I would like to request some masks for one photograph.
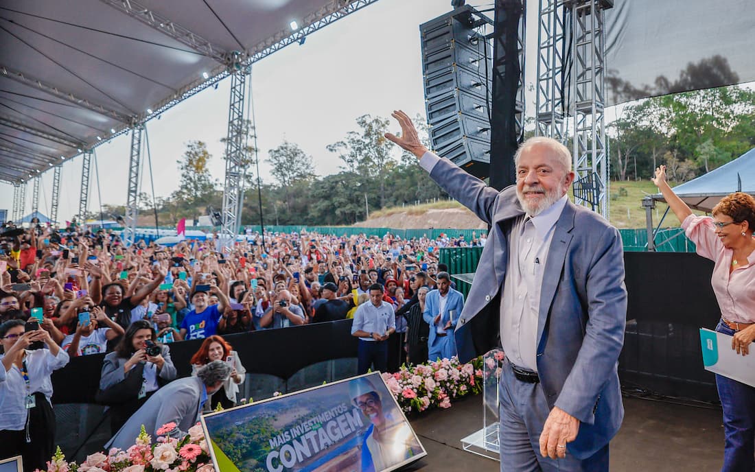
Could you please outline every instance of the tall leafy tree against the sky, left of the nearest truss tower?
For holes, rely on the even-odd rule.
[[[212,159],[207,145],[202,141],[186,143],[186,152],[176,162],[180,171],[180,186],[173,193],[173,199],[183,202],[183,209],[196,218],[199,208],[211,204],[216,182],[212,179],[208,163]]]

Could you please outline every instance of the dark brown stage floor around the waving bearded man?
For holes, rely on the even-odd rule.
[[[611,442],[612,472],[720,470],[720,409],[624,398],[624,424]],[[461,438],[482,427],[482,398],[458,400],[411,419],[427,457],[406,470],[495,472],[498,461],[464,451]]]

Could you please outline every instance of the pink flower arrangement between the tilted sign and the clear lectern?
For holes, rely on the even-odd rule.
[[[450,408],[451,400],[482,391],[482,357],[461,364],[454,356],[420,366],[402,366],[399,372],[384,373],[390,393],[404,412],[424,412],[434,406]]]

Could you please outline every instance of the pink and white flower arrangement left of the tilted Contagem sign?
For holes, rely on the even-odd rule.
[[[125,451],[112,448],[107,453],[95,452],[81,464],[66,462],[58,447],[46,472],[214,472],[202,425],[190,427],[182,439],[171,437],[175,432],[175,423],[163,424],[156,431],[156,443],[152,443],[142,426],[134,446]]]

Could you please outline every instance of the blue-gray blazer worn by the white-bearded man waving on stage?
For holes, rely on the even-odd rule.
[[[524,211],[515,187],[498,192],[448,159],[430,177],[491,227],[455,330],[459,358],[467,362],[500,344],[508,238]],[[606,446],[624,418],[617,372],[627,316],[623,256],[615,227],[587,208],[566,204],[544,269],[537,362],[549,408],[558,406],[581,422],[569,443],[577,458]]]

